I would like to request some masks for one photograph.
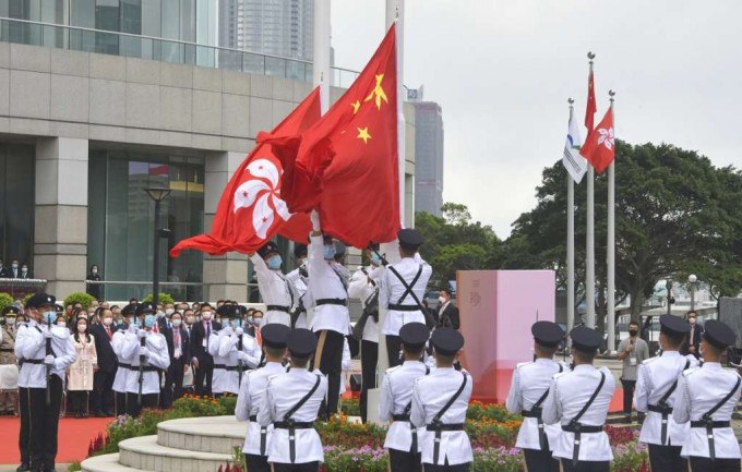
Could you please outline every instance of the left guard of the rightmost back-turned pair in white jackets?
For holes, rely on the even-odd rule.
[[[649,462],[656,472],[687,471],[687,461],[680,450],[689,434],[690,424],[678,424],[672,419],[674,392],[679,377],[697,362],[680,355],[691,325],[673,315],[659,317],[659,346],[662,355],[639,364],[634,404],[636,411],[647,413],[642,424],[639,441],[649,446]]]

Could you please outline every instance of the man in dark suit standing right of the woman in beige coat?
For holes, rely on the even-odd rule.
[[[117,326],[113,324],[113,314],[108,308],[100,310],[100,319],[101,324],[91,325],[89,328],[98,355],[98,371],[93,375],[91,410],[94,416],[113,416],[113,378],[118,361],[111,339]]]

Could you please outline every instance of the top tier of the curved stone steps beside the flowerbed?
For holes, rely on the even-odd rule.
[[[242,447],[248,423],[235,416],[185,417],[164,421],[157,425],[160,446],[201,452],[232,455]]]

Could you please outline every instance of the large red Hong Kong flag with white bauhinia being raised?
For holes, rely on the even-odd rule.
[[[320,119],[320,88],[315,88],[274,130],[277,136],[292,136]],[[276,233],[307,242],[312,223],[307,214],[291,215],[282,194],[283,166],[271,144],[258,146],[242,161],[222,194],[212,232],[180,241],[170,250],[178,257],[182,250],[210,254],[237,251],[251,254]]]

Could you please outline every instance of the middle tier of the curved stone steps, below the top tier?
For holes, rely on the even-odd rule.
[[[157,444],[157,436],[142,436],[119,443],[119,463],[154,472],[217,472],[232,461],[231,453],[175,449]]]

